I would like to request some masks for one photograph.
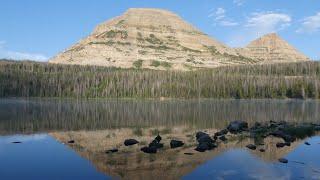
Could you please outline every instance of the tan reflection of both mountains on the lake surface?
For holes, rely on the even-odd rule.
[[[228,133],[225,142],[217,140],[218,147],[200,153],[195,151],[197,141],[195,134],[198,129],[187,126],[114,129],[100,131],[68,131],[50,133],[62,143],[72,139],[74,144],[68,144],[82,157],[89,159],[99,171],[122,179],[178,179],[194,171],[198,166],[220,156],[232,149],[244,149],[253,156],[266,163],[277,162],[299,144],[298,140],[283,148],[277,148],[276,143],[282,142],[280,138],[267,137],[263,145],[257,145],[257,150],[249,150],[246,145],[255,143],[251,138],[243,138]],[[203,129],[213,135],[218,129]],[[143,153],[140,148],[148,145],[157,134],[162,137],[164,147],[156,154]],[[126,147],[123,142],[127,138],[139,140],[139,144]],[[181,140],[185,143],[181,148],[170,148],[170,140]],[[105,153],[109,149],[118,149],[115,153]],[[259,149],[265,149],[260,152]],[[186,153],[191,153],[186,154]]]

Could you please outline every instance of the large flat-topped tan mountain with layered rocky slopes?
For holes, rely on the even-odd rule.
[[[179,16],[160,9],[129,9],[50,63],[123,68],[192,69],[254,63],[202,33]]]

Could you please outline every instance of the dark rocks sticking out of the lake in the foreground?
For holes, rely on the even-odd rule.
[[[283,142],[276,143],[277,148],[282,148],[285,146],[290,146],[292,142],[296,141],[298,138],[302,139],[307,136],[313,135],[316,131],[320,131],[320,125],[317,124],[289,124],[287,122],[274,122],[270,121],[265,124],[255,123],[252,127],[249,128],[248,123],[244,121],[233,121],[229,125],[222,129],[214,135],[209,135],[208,133],[199,131],[196,133],[195,138],[197,141],[197,146],[194,149],[198,152],[205,152],[212,150],[218,147],[220,142],[227,142],[228,138],[226,137],[228,133],[236,135],[246,135],[254,139],[259,139],[262,142],[256,142],[254,144],[248,144],[246,147],[250,150],[257,150],[257,146],[264,145],[263,140],[268,136],[278,137],[283,140]],[[162,137],[157,135],[154,140],[152,140],[148,146],[142,147],[140,150],[144,153],[154,154],[157,151],[164,147],[164,144],[161,143]],[[139,141],[135,139],[126,139],[124,141],[125,146],[132,146],[138,144]],[[306,145],[310,143],[305,142]],[[170,148],[182,147],[184,142],[180,140],[171,140]],[[259,148],[260,152],[265,152],[265,149]],[[106,153],[118,152],[118,149],[107,150]],[[186,155],[192,155],[193,153],[185,153]],[[279,162],[287,163],[288,160],[282,158],[279,159]]]

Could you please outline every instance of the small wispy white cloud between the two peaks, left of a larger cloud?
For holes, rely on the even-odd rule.
[[[226,10],[221,7],[216,10],[211,10],[211,13],[208,15],[208,17],[214,19],[214,25],[237,26],[239,24],[233,21],[232,19],[226,17]]]

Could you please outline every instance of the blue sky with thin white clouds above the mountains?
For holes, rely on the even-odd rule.
[[[0,58],[46,61],[130,7],[173,11],[232,47],[277,32],[320,59],[319,0],[1,0]]]

